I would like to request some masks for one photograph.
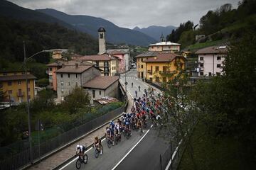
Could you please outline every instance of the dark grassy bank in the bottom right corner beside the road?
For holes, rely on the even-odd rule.
[[[250,155],[245,145],[235,140],[233,136],[215,137],[206,132],[204,125],[198,125],[191,139],[197,169],[255,169],[253,155]],[[178,167],[178,170],[183,169],[193,169],[193,162],[191,162],[187,148]]]

